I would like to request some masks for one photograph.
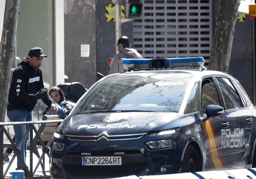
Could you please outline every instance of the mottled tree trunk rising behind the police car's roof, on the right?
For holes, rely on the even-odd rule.
[[[221,0],[212,42],[209,69],[227,73],[240,0]]]

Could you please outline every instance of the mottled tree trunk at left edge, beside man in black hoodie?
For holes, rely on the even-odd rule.
[[[0,122],[5,121],[19,4],[20,0],[6,0],[5,3],[3,32],[0,43]]]

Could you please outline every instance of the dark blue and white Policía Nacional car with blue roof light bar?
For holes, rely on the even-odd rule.
[[[55,130],[52,178],[255,167],[256,110],[235,78],[202,57],[119,63]]]

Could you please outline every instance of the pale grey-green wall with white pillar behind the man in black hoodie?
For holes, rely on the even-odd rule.
[[[0,35],[6,0],[0,0]],[[45,86],[64,83],[64,2],[63,0],[21,0],[11,73],[33,47],[41,47],[48,58],[41,66]],[[33,120],[42,120],[45,104],[37,102]],[[6,120],[8,120],[6,118]]]

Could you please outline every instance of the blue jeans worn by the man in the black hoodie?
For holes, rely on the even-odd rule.
[[[33,112],[25,112],[23,110],[12,110],[12,111],[7,111],[7,116],[11,122],[26,122],[26,121],[32,121],[33,117]],[[15,145],[18,147],[23,136],[26,133],[26,130],[28,129],[28,124],[21,124],[21,125],[14,125],[14,132],[16,136],[16,143]],[[26,155],[27,155],[27,142],[29,139],[29,133],[27,135],[26,140],[23,142],[21,145],[21,157],[23,160],[26,162]],[[23,170],[23,163],[20,160],[20,158],[17,156],[17,165],[18,165],[18,170]]]

